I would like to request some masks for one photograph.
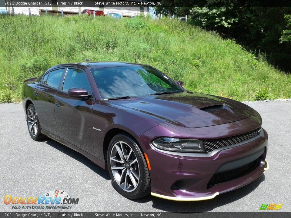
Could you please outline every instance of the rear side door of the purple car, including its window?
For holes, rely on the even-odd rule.
[[[61,84],[65,68],[50,71],[42,76],[41,81],[35,86],[34,106],[42,129],[59,136],[55,121],[55,99]]]

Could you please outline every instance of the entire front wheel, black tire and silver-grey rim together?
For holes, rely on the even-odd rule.
[[[120,152],[123,157],[119,155]],[[121,195],[138,199],[150,193],[151,182],[146,158],[133,137],[118,134],[112,138],[107,152],[107,164],[112,184]]]

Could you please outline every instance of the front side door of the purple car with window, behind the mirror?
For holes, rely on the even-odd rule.
[[[88,94],[92,89],[85,71],[68,68],[60,91],[55,95],[55,119],[59,136],[67,142],[94,155],[92,146],[92,97],[72,98],[71,88],[85,88]]]

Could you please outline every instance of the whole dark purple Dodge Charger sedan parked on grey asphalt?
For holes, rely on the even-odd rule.
[[[260,115],[182,84],[145,64],[60,64],[23,85],[28,132],[108,169],[130,199],[205,200],[256,180],[269,168]]]

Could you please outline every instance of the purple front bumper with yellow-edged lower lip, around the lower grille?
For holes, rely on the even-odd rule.
[[[153,128],[152,131],[157,130]],[[141,137],[142,142],[144,143],[146,139],[149,140],[151,138],[149,136],[149,133],[145,133]],[[262,129],[261,135],[243,144],[223,147],[209,154],[192,154],[191,157],[183,153],[180,155],[163,153],[152,145],[148,146],[150,141],[146,141],[149,144],[143,149],[145,149],[151,165],[151,194],[169,200],[197,201],[212,199],[218,194],[243,187],[269,169],[268,162],[265,160],[267,139],[268,135]],[[256,165],[252,170],[229,181],[208,185],[212,176],[222,166],[237,167],[239,162],[242,162],[241,165],[243,165],[245,164],[243,162],[248,161],[250,157],[256,158]],[[173,188],[173,184],[177,181],[186,181],[186,184]]]

